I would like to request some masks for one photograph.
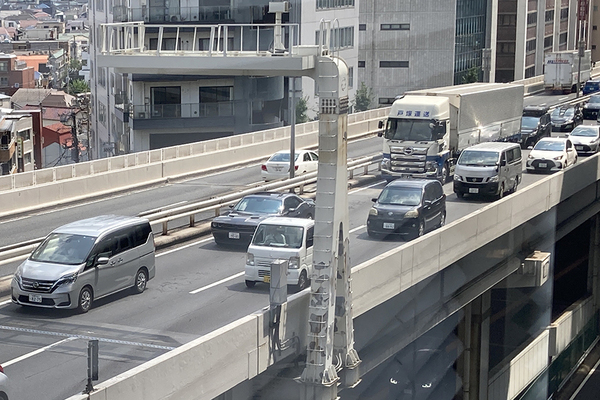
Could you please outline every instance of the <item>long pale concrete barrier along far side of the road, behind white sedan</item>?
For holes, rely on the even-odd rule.
[[[376,132],[378,122],[388,112],[389,107],[351,114],[348,118],[349,138]],[[318,122],[298,125],[297,148],[317,146],[318,127]],[[259,160],[289,148],[289,137],[290,127],[276,128],[2,176],[0,216]]]

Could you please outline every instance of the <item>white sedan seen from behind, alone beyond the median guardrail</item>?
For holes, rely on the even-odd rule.
[[[294,176],[317,170],[319,156],[316,152],[310,150],[298,150],[295,154]],[[260,169],[260,175],[265,181],[272,181],[290,176],[290,151],[278,151],[273,154]]]

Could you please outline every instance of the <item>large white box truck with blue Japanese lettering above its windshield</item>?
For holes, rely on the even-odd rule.
[[[431,178],[454,173],[460,151],[481,142],[520,139],[523,85],[470,83],[405,93],[394,101],[383,140],[381,175]],[[379,127],[383,128],[384,121]]]

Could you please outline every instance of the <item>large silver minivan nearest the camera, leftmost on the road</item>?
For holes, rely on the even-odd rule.
[[[12,301],[87,312],[92,301],[154,278],[154,236],[144,218],[104,215],[52,231],[15,272]]]

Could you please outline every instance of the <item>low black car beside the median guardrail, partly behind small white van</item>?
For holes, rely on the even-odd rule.
[[[211,231],[217,244],[247,246],[263,219],[274,216],[313,218],[315,203],[294,193],[262,192],[242,198],[231,210],[213,219]]]

